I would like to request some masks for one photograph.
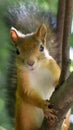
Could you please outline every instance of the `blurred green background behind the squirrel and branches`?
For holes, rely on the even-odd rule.
[[[29,3],[29,0],[23,0]],[[49,9],[55,15],[57,14],[58,0],[32,0],[38,3],[39,7],[45,8],[46,11]],[[10,124],[8,114],[5,107],[5,92],[6,92],[6,69],[9,58],[9,29],[7,28],[5,21],[3,20],[3,14],[5,13],[5,7],[8,3],[13,4],[18,2],[18,0],[0,0],[0,130],[1,127],[6,128],[6,130],[12,130],[13,127]],[[33,5],[34,6],[34,5]],[[73,25],[71,27],[71,37],[70,37],[70,57],[73,60]],[[73,61],[71,62],[70,71],[73,71]],[[71,125],[72,127],[72,125]],[[70,128],[72,130],[73,128]]]

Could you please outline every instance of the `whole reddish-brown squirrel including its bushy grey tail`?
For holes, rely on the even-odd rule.
[[[12,88],[8,85],[9,96],[14,92],[16,97],[16,102],[12,101],[16,104],[15,130],[38,130],[44,116],[54,118],[48,106],[61,71],[54,53],[50,51],[51,44],[54,45],[51,18],[37,8],[34,10],[32,6],[27,6],[20,4],[19,8],[10,8],[6,18],[6,23],[12,26],[10,36],[16,51],[11,55],[13,75],[9,72]],[[12,92],[9,92],[10,89]],[[13,116],[12,106],[11,109]]]

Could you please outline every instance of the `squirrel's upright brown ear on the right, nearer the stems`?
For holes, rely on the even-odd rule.
[[[39,37],[42,41],[44,41],[46,39],[46,34],[47,34],[47,28],[46,28],[46,25],[45,24],[42,24],[37,32],[36,32],[36,35],[37,37]]]

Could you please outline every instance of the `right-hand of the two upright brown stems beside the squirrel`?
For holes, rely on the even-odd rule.
[[[64,30],[63,30],[63,41],[62,41],[62,71],[60,77],[60,84],[64,82],[67,77],[69,70],[70,60],[69,60],[69,38],[71,29],[71,19],[72,19],[72,7],[73,0],[66,0],[65,5],[65,20],[64,20]]]

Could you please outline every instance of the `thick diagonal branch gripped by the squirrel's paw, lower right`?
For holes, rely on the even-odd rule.
[[[64,116],[73,104],[73,72],[69,78],[63,83],[57,91],[54,92],[50,99],[50,103],[53,104],[53,108],[57,114],[57,120],[50,126],[50,120],[48,129],[59,130],[61,129]]]

